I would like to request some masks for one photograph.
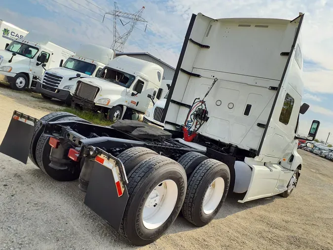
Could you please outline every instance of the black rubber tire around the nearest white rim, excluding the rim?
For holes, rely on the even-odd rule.
[[[158,183],[171,179],[178,186],[175,208],[168,219],[156,229],[147,229],[142,222],[143,208],[150,192]],[[136,246],[145,246],[160,238],[177,218],[185,198],[186,173],[182,166],[170,158],[155,156],[133,169],[128,177],[129,199],[120,231]]]

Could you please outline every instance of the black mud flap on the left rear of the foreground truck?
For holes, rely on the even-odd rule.
[[[36,118],[14,111],[1,142],[0,152],[27,164],[36,122]]]

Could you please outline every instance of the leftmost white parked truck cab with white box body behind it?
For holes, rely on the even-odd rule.
[[[44,70],[58,67],[72,55],[74,52],[50,42],[44,34],[29,32],[0,50],[0,75],[12,89],[34,88]]]

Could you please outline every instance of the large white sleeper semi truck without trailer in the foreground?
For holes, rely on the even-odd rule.
[[[23,163],[29,155],[55,180],[78,178],[84,204],[135,245],[161,237],[179,212],[207,225],[228,193],[242,194],[240,203],[288,197],[303,166],[297,140],[314,140],[320,125],[313,121],[307,138],[297,137],[309,107],[301,104],[303,17],[193,14],[164,130],[128,120],[93,125],[64,112],[37,120],[15,111],[0,152]]]

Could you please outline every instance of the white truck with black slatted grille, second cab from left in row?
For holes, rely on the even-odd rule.
[[[36,91],[45,99],[56,98],[71,105],[70,89],[75,87],[77,79],[98,76],[114,56],[115,52],[110,48],[82,44],[60,67],[45,71]]]

